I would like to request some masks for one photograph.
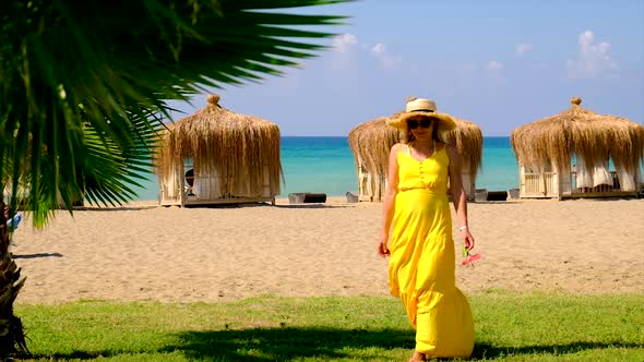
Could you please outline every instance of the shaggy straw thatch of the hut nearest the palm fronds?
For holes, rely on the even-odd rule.
[[[204,108],[168,125],[155,162],[159,181],[182,177],[184,160],[192,159],[195,180],[215,178],[219,197],[260,197],[266,184],[271,196],[278,195],[279,128],[218,101],[208,95]]]

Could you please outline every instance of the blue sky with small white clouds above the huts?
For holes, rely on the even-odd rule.
[[[213,89],[224,107],[286,136],[346,136],[408,96],[434,99],[487,136],[563,111],[573,96],[644,122],[642,0],[362,0],[298,12],[350,19],[331,28],[329,49],[284,76]],[[170,104],[184,112],[172,117],[205,102]]]

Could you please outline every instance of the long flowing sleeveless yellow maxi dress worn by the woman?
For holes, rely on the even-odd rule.
[[[443,148],[422,161],[408,146],[398,152],[389,279],[416,328],[416,350],[428,357],[468,358],[474,321],[456,288],[452,216],[448,201],[450,157]]]

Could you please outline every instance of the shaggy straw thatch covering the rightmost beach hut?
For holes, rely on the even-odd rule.
[[[552,167],[565,172],[573,155],[577,167],[587,170],[604,168],[611,158],[619,173],[637,177],[644,158],[644,126],[595,113],[581,102],[574,97],[561,113],[514,129],[511,143],[518,162],[539,171]],[[632,183],[622,181],[622,185]]]

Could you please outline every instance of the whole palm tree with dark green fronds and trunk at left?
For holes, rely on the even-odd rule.
[[[0,2],[0,186],[36,227],[80,197],[135,196],[169,99],[281,74],[344,17],[277,9],[350,0]],[[143,176],[142,176],[143,174]],[[0,202],[3,205],[3,202]],[[1,206],[1,205],[0,205]],[[24,278],[0,213],[0,357],[28,352],[13,301]]]

